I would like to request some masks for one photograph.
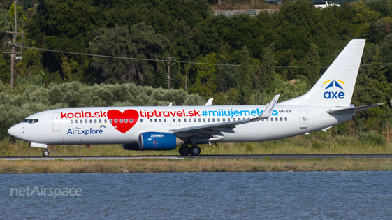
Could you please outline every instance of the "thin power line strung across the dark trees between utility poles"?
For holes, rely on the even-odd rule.
[[[82,55],[88,57],[104,57],[104,58],[116,58],[116,59],[133,59],[133,60],[145,60],[145,61],[167,61],[166,59],[144,59],[144,58],[132,58],[132,57],[115,57],[115,56],[107,56],[107,55],[99,55],[99,54],[84,54],[80,52],[68,52],[62,50],[50,50],[50,49],[43,49],[38,47],[27,47],[22,45],[17,45],[17,47],[27,48],[27,49],[34,49],[34,50],[43,50],[48,52],[61,52],[64,54],[75,54],[75,55]],[[199,62],[190,62],[190,61],[177,61],[182,64],[202,64],[202,65],[213,65],[213,66],[241,66],[240,64],[211,64],[211,63],[199,63]],[[380,64],[382,66],[391,66],[392,63],[385,63]],[[253,67],[261,67],[261,65],[250,65]],[[373,64],[361,64],[361,67],[368,67],[374,66]],[[275,68],[307,68],[307,66],[274,66]],[[320,66],[321,68],[328,68],[329,66]]]

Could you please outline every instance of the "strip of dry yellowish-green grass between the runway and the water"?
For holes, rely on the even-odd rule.
[[[391,171],[389,159],[127,159],[5,161],[0,173],[147,173],[260,171]]]

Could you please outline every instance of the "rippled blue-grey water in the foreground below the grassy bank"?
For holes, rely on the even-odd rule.
[[[81,196],[10,196],[34,186]],[[0,174],[0,219],[391,219],[391,191],[392,172]]]

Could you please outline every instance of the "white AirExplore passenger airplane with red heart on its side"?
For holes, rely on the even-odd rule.
[[[126,150],[174,150],[199,155],[197,144],[261,142],[326,130],[381,104],[350,105],[365,40],[352,40],[303,96],[269,105],[63,108],[30,115],[8,130],[48,145],[122,144]],[[191,145],[188,147],[187,145]]]

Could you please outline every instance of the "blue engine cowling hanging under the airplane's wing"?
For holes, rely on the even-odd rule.
[[[183,144],[173,133],[145,132],[139,135],[141,150],[172,150]]]

